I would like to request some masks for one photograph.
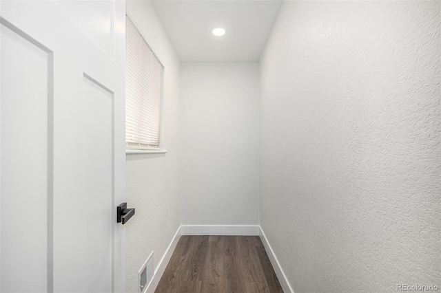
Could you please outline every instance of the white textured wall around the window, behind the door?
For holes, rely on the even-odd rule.
[[[179,60],[150,1],[127,1],[127,10],[165,66],[165,148],[158,155],[126,155],[127,206],[136,215],[127,226],[127,292],[137,292],[138,271],[154,251],[163,257],[181,224],[179,167]]]

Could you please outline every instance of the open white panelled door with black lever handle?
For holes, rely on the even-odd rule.
[[[0,291],[123,292],[125,3],[0,16]]]

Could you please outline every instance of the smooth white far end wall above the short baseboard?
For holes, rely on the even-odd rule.
[[[258,63],[181,64],[181,222],[258,224]]]

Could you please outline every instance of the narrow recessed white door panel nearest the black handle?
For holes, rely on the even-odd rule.
[[[85,231],[84,274],[88,279],[83,292],[112,291],[112,100],[113,93],[88,77],[83,78],[83,149],[85,178],[85,215],[81,219]],[[97,180],[99,178],[99,180]],[[96,273],[98,272],[98,274]]]

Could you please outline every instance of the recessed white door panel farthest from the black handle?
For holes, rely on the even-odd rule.
[[[19,30],[0,26],[1,195],[8,195],[1,197],[1,291],[44,292],[48,281],[48,84],[52,83],[48,67],[52,64],[48,52]]]

